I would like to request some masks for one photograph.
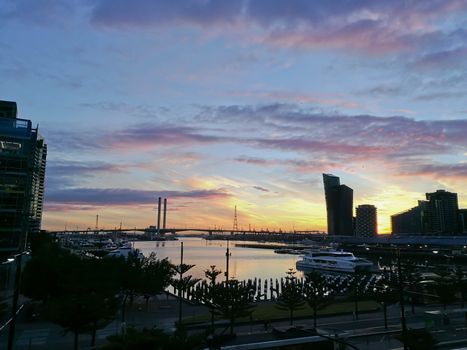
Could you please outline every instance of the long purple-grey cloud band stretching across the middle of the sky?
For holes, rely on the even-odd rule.
[[[417,120],[403,116],[344,115],[297,104],[201,106],[195,118],[179,123],[173,121],[165,126],[136,124],[99,134],[76,132],[74,137],[62,135],[54,142],[62,149],[61,142],[69,147],[81,143],[99,152],[110,153],[134,153],[142,149],[155,149],[160,153],[162,147],[209,148],[229,144],[233,146],[233,152],[237,147],[242,152],[244,147],[252,150],[248,156],[234,153],[232,159],[238,162],[285,166],[296,172],[343,169],[354,162],[360,165],[369,161],[399,164],[414,157],[429,160],[439,155],[455,155],[467,148],[467,119]],[[78,150],[79,147],[84,146],[78,146]],[[257,157],[257,151],[267,150],[284,154],[273,159]],[[187,153],[186,150],[180,152]],[[196,162],[204,159],[196,158]],[[78,168],[62,164],[54,171],[89,173],[93,166],[96,172],[112,170],[107,164],[80,165]],[[113,170],[123,171],[124,167],[120,165]]]

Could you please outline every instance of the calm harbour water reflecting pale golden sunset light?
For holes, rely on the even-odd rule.
[[[183,262],[196,265],[190,270],[190,274],[197,278],[204,278],[204,271],[211,265],[225,272],[226,241],[207,241],[198,237],[181,237],[178,241],[165,242],[135,242],[134,247],[148,256],[155,252],[157,257],[169,258],[173,264],[180,264],[180,242],[183,242]],[[276,254],[273,249],[240,248],[235,243],[258,243],[250,241],[235,242],[229,244],[230,263],[229,276],[238,280],[284,277],[288,269],[295,270],[295,263],[300,256],[290,254]],[[297,277],[302,277],[298,271]]]

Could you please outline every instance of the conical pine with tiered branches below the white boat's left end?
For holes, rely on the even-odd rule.
[[[291,325],[293,325],[294,312],[303,309],[305,305],[303,286],[298,282],[295,273],[293,269],[286,272],[285,283],[276,301],[277,308],[289,311]]]

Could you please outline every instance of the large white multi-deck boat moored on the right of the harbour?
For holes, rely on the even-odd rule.
[[[324,270],[330,272],[370,272],[373,263],[357,258],[353,253],[337,250],[309,251],[302,260],[297,261],[298,270]]]

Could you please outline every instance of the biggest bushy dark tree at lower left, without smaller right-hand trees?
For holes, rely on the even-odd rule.
[[[43,243],[25,266],[21,290],[42,301],[46,319],[74,333],[76,348],[80,333],[91,332],[94,343],[96,330],[114,318],[120,271],[119,259],[83,258]]]

